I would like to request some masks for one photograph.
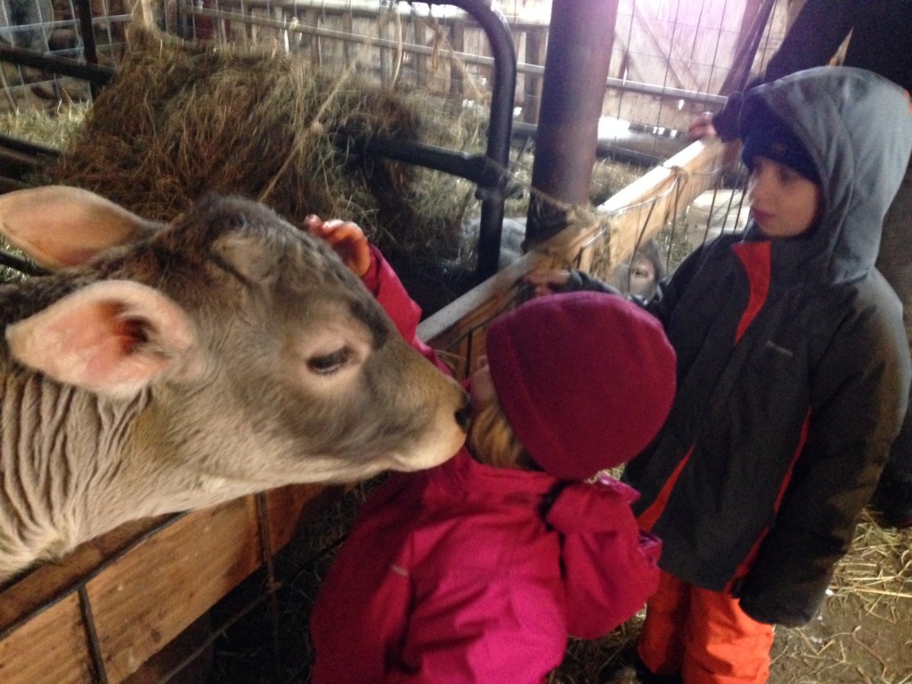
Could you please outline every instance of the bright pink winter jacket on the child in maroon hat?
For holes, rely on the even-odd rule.
[[[366,285],[394,320],[417,311],[376,256]],[[397,325],[414,340],[417,322]],[[559,482],[464,449],[430,471],[394,473],[316,599],[311,681],[544,681],[568,635],[601,637],[655,590],[659,544],[640,532],[636,498],[612,478]]]

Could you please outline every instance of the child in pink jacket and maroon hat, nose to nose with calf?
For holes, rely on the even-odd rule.
[[[418,309],[353,223],[309,223],[414,337]],[[489,327],[466,446],[394,473],[364,504],[316,599],[313,684],[535,684],[568,636],[601,637],[658,582],[637,492],[600,471],[658,432],[675,356],[620,297],[535,299]],[[432,354],[431,354],[431,357]]]

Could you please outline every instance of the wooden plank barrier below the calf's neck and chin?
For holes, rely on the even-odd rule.
[[[124,681],[264,563],[337,490],[295,485],[124,525],[0,595],[0,681]]]

